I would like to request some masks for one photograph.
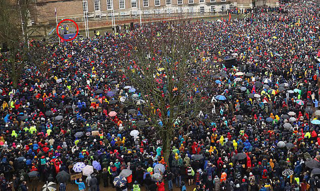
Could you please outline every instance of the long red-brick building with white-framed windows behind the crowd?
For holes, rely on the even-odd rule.
[[[142,22],[161,19],[193,18],[225,15],[232,7],[240,9],[258,5],[277,6],[278,0],[37,0],[37,8],[43,15],[37,22],[47,23],[48,33],[56,23],[64,18],[75,20],[84,29],[84,12],[90,29],[112,26],[112,13],[115,24],[139,22],[139,8]]]

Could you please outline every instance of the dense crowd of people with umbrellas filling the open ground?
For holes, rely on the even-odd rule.
[[[79,191],[320,190],[320,4],[245,13],[184,24],[201,42],[194,76],[203,86],[194,94],[211,109],[179,119],[168,162],[149,116],[128,104],[144,95],[123,73],[131,37],[150,24],[46,45],[48,74],[30,64],[16,89],[2,70],[1,191],[38,180],[65,191],[81,172],[72,180]],[[228,57],[238,67],[225,67]]]

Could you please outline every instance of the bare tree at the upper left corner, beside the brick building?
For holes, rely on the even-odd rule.
[[[26,62],[32,61],[38,66],[44,66],[33,59],[33,55],[39,57],[39,54],[46,51],[35,50],[39,47],[30,47],[29,44],[30,34],[37,30],[37,27],[30,25],[38,15],[34,0],[0,0],[0,44],[6,44],[9,49],[9,52],[3,54],[7,62],[2,63],[2,67],[11,77],[14,88],[17,87]]]

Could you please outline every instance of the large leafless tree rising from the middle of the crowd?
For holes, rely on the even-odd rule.
[[[130,45],[128,77],[144,97],[144,111],[157,128],[167,163],[172,139],[185,121],[182,119],[198,117],[199,111],[209,106],[197,91],[203,83],[196,78],[199,35],[184,23],[150,24],[133,35]]]

